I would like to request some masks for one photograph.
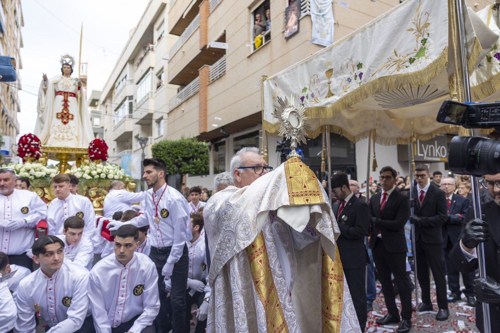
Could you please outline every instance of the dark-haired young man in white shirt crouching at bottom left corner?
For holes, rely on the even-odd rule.
[[[14,330],[34,333],[39,313],[50,333],[95,332],[88,316],[88,271],[64,262],[64,243],[56,236],[38,238],[31,248],[40,268],[22,279],[15,295]]]

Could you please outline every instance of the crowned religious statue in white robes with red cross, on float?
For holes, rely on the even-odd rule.
[[[71,77],[73,57],[61,57],[61,74],[42,75],[34,134],[44,146],[86,148],[94,139],[81,81]]]

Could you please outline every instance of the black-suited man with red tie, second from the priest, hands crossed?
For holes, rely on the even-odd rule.
[[[411,329],[411,286],[406,275],[406,238],[404,225],[409,217],[409,200],[394,188],[396,171],[389,167],[380,169],[381,193],[373,195],[369,208],[371,235],[369,247],[382,285],[387,315],[378,320],[379,325],[399,323],[398,333]],[[390,274],[399,290],[401,319],[397,311]]]

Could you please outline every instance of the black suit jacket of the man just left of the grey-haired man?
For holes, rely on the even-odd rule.
[[[420,206],[418,201],[419,192],[420,189],[415,186],[413,188],[413,198],[415,198],[413,214],[421,217],[420,223],[415,225],[415,241],[421,238],[423,243],[440,244],[442,243],[441,226],[447,219],[448,204],[446,203],[446,195],[440,188],[430,184]]]

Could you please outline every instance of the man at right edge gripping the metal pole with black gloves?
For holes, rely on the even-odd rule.
[[[484,243],[487,277],[474,279],[473,285],[476,297],[476,326],[482,333],[480,303],[484,302],[490,304],[491,332],[500,332],[500,173],[484,175],[481,184],[489,190],[493,201],[481,205],[483,220],[474,219],[473,209],[468,211],[463,220],[460,241],[453,246],[449,259],[459,272],[474,272],[478,266],[475,247]]]

